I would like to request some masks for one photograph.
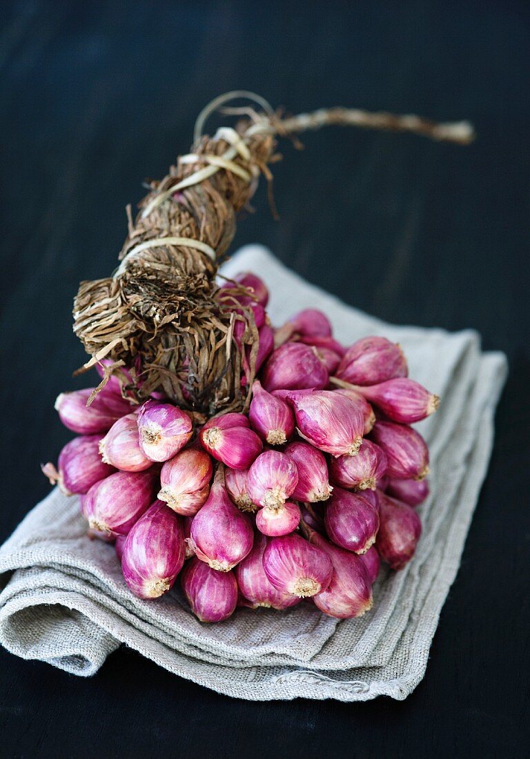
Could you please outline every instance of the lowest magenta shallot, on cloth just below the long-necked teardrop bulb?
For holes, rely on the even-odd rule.
[[[197,557],[186,562],[181,587],[200,622],[223,622],[235,611],[238,584],[233,572],[216,572]]]

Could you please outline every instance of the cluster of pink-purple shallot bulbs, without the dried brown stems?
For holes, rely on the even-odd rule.
[[[62,393],[56,408],[78,436],[43,471],[80,495],[90,537],[115,543],[140,598],[180,576],[203,622],[301,599],[361,616],[380,560],[397,570],[414,556],[429,453],[411,425],[439,399],[409,379],[399,345],[343,346],[314,309],[274,330],[265,284],[248,272],[235,282],[276,339],[247,412],[198,420],[159,393],[134,402],[112,381],[88,406],[93,388]]]

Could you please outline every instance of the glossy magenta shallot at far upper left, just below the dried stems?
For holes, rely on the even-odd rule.
[[[117,419],[130,414],[134,406],[121,395],[104,388],[90,406],[87,401],[95,388],[62,392],[55,400],[55,409],[68,430],[78,435],[98,435],[110,430]]]

